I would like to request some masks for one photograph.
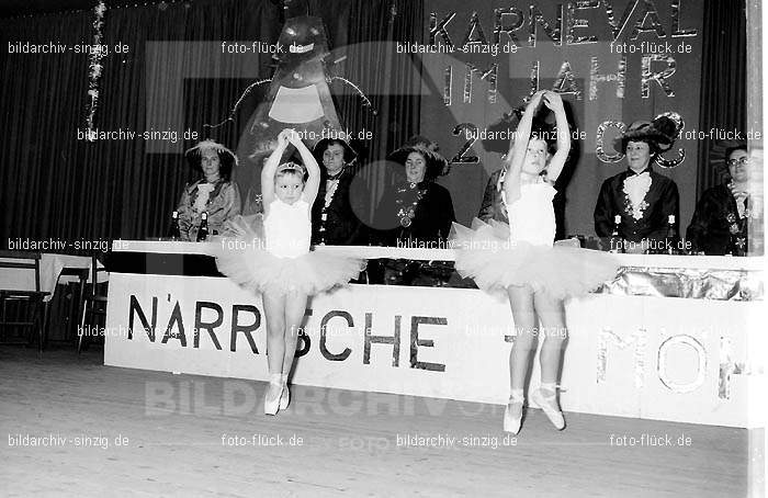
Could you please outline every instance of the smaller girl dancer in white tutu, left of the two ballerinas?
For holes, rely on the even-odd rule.
[[[306,170],[295,162],[280,163],[289,144],[296,147]],[[216,254],[222,273],[262,297],[270,374],[267,415],[287,408],[287,378],[308,296],[348,283],[364,267],[360,259],[309,251],[310,208],[319,182],[320,169],[312,152],[293,129],[282,131],[261,172],[262,220],[248,224],[237,218],[231,229],[240,237],[223,239]]]

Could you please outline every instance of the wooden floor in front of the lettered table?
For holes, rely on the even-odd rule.
[[[263,383],[103,366],[102,354],[0,347],[0,495],[747,495],[743,429],[566,414],[557,432],[532,409],[505,445],[502,407],[297,386],[267,417]],[[644,433],[673,445],[615,445]],[[404,445],[416,437],[434,439]]]

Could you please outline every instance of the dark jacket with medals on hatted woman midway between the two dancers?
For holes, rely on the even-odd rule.
[[[411,188],[413,185],[413,188]],[[398,192],[404,191],[404,192]],[[407,211],[413,206],[418,192],[421,199],[414,208],[414,216],[404,226],[400,210]],[[399,202],[398,202],[399,201]],[[384,194],[376,210],[376,242],[384,246],[441,248],[437,242],[444,242],[451,231],[451,223],[455,222],[453,201],[448,190],[433,181],[422,181],[411,184],[399,182]]]

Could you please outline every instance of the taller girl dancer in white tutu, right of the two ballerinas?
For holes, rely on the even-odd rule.
[[[545,137],[531,135],[533,116],[543,103],[555,114],[557,150],[547,154]],[[509,297],[516,339],[509,358],[511,396],[504,430],[518,433],[522,422],[524,381],[538,336],[541,348],[541,387],[531,398],[558,430],[565,420],[557,401],[557,377],[567,337],[563,299],[583,295],[613,279],[618,264],[598,251],[553,247],[555,215],[552,186],[571,149],[568,122],[560,95],[535,93],[528,104],[507,155],[504,199],[509,225],[479,219],[468,229],[454,224],[456,271],[487,292]],[[549,159],[549,160],[547,160]],[[541,327],[540,327],[541,325]]]

